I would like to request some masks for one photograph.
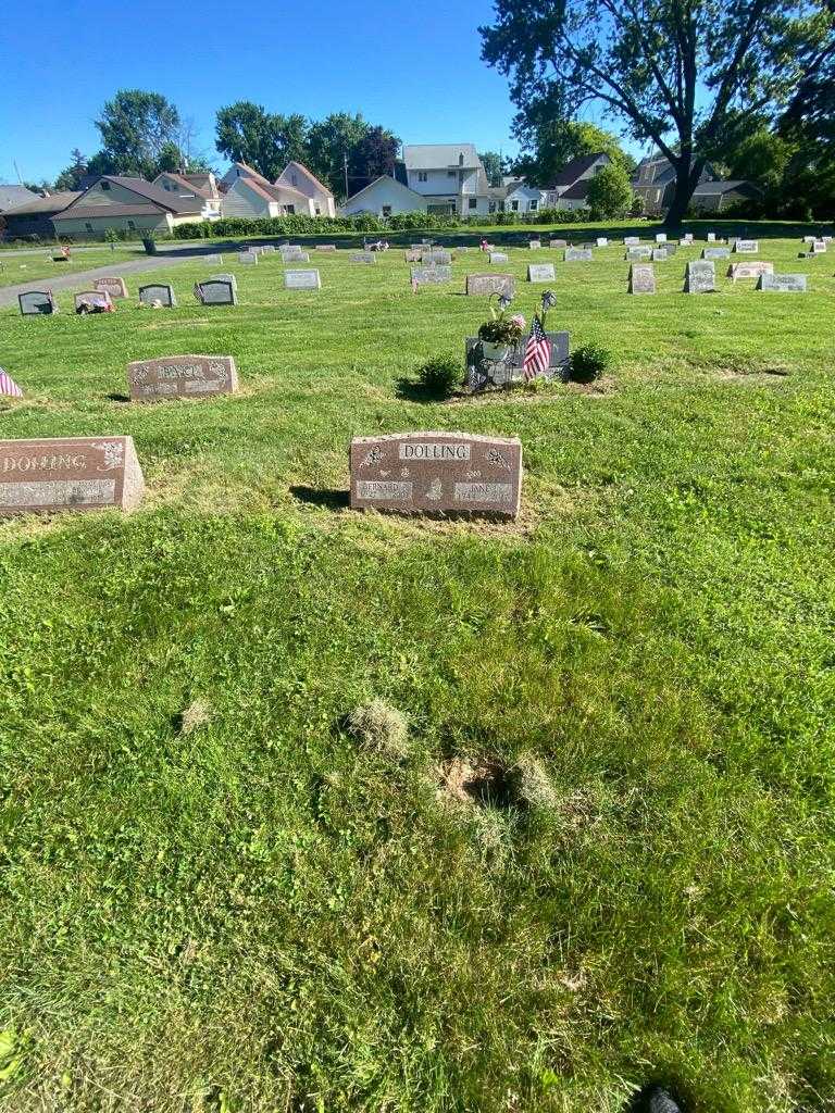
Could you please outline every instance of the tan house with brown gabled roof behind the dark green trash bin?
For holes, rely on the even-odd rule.
[[[203,219],[203,198],[180,197],[144,178],[102,175],[51,218],[58,236],[102,239],[109,229],[166,235]]]

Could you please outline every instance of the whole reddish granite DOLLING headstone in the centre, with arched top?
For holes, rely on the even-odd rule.
[[[394,433],[351,442],[351,505],[400,513],[515,518],[522,486],[517,437]]]

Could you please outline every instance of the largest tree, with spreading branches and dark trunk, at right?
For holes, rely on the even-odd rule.
[[[773,117],[825,68],[831,0],[497,0],[482,58],[511,77],[522,111],[597,104],[651,139],[676,171],[667,223],[685,215],[711,146]]]

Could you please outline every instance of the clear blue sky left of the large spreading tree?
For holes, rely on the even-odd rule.
[[[11,0],[0,21],[0,181],[51,179],[98,149],[94,119],[118,88],[163,92],[207,155],[235,100],[320,118],[362,111],[404,142],[515,152],[507,80],[479,59],[490,0],[247,4]],[[303,12],[311,12],[305,18]],[[234,14],[232,14],[234,13]]]

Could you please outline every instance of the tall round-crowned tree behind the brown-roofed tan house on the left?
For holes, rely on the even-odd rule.
[[[159,92],[119,89],[108,100],[96,127],[101,134],[101,150],[96,156],[100,174],[136,174],[154,178],[159,159],[176,146],[179,112]]]

